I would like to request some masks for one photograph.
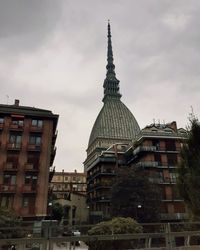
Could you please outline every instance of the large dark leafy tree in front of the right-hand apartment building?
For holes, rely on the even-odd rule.
[[[112,187],[112,216],[131,217],[138,222],[159,221],[161,190],[143,170],[121,169]]]

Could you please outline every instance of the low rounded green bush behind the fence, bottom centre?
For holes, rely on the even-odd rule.
[[[113,235],[142,233],[142,227],[132,218],[113,218],[110,221],[103,221],[88,231],[89,235]],[[89,243],[89,250],[121,250],[130,249],[133,242],[125,240],[116,241],[95,241]]]

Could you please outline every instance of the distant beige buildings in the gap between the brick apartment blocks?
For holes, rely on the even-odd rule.
[[[60,203],[64,208],[65,225],[82,224],[88,221],[86,203],[86,174],[55,172],[51,181],[52,204]]]

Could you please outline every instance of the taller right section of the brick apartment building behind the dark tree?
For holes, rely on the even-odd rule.
[[[149,180],[161,188],[162,221],[180,221],[187,218],[183,199],[176,183],[180,149],[187,132],[177,129],[176,122],[146,126],[129,149],[127,165],[143,168]],[[130,152],[126,152],[126,155]],[[129,158],[130,157],[130,158]]]

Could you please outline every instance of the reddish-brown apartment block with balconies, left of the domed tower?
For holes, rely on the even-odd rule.
[[[0,206],[26,218],[45,217],[58,115],[0,105]]]

